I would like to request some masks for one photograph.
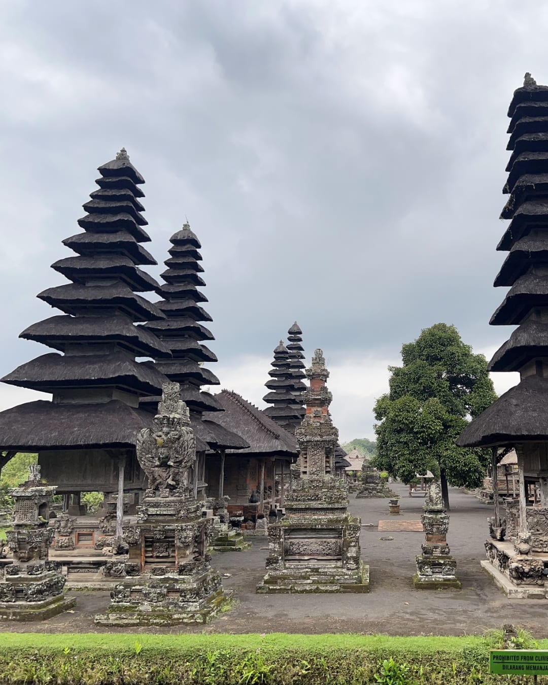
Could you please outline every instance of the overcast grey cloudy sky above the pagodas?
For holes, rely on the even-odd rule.
[[[295,319],[322,347],[343,440],[373,435],[401,344],[438,321],[490,356],[506,112],[548,82],[538,0],[0,0],[0,375],[45,353],[97,166],[147,180],[159,262],[203,245],[214,371],[264,406]],[[505,222],[506,223],[506,222]],[[151,269],[157,275],[160,269]],[[514,375],[495,379],[499,392]],[[0,408],[37,396],[0,388]]]

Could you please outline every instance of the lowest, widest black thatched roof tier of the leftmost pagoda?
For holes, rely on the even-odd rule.
[[[150,426],[150,414],[120,400],[61,404],[45,400],[0,412],[0,449],[135,447],[137,433]]]

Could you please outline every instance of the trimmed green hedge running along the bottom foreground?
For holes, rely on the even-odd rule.
[[[358,685],[377,683],[389,658],[409,669],[386,684],[501,682],[488,653],[477,636],[0,633],[0,682]]]

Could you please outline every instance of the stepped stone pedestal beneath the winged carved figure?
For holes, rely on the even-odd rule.
[[[99,625],[175,625],[207,623],[229,595],[206,552],[212,519],[202,504],[185,497],[150,497],[140,507],[140,522],[124,530],[125,562],[110,562],[105,573],[122,580]]]

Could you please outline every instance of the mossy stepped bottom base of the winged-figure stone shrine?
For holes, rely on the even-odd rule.
[[[232,597],[208,564],[191,575],[127,578],[111,591],[112,602],[97,625],[208,623]]]

